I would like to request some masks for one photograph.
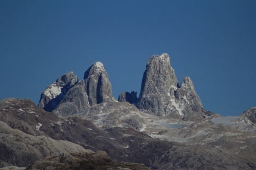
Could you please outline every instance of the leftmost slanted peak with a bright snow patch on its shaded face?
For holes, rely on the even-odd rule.
[[[43,110],[51,112],[63,100],[68,90],[72,88],[78,79],[73,72],[68,72],[60,76],[53,84],[49,85],[45,91],[42,92],[38,106]]]

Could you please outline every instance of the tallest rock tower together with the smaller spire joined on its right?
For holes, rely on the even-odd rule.
[[[177,114],[192,121],[203,120],[203,115],[207,112],[204,111],[189,77],[178,84],[170,65],[170,57],[166,53],[148,59],[136,106],[157,116]]]

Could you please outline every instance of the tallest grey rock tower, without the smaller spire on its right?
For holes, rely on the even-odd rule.
[[[179,114],[171,103],[171,89],[177,88],[177,78],[170,65],[168,54],[154,55],[148,59],[143,73],[137,107],[157,116]],[[174,98],[173,98],[174,100]]]

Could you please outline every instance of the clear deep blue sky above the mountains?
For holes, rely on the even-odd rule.
[[[0,1],[0,99],[30,98],[102,62],[114,97],[139,91],[146,61],[168,53],[206,110],[256,107],[256,1]]]

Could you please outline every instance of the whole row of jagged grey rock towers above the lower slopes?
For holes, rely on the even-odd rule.
[[[46,94],[46,97],[41,97],[39,106],[58,116],[77,114],[93,105],[116,101],[101,62],[93,63],[81,81],[78,82],[77,76],[69,72],[48,86],[42,94]],[[178,84],[167,53],[151,56],[147,60],[139,98],[135,92],[123,92],[118,101],[128,101],[141,111],[157,116],[177,115],[184,120],[203,120],[210,114],[202,107],[189,77]],[[48,103],[51,108],[45,107]],[[204,116],[205,113],[207,116]]]

